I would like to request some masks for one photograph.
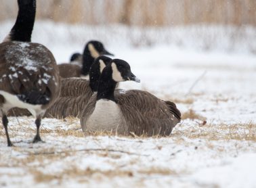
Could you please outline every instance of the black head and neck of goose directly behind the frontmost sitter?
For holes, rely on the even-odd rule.
[[[91,87],[91,91],[93,91],[93,92],[97,91],[98,83],[100,80],[100,74],[102,74],[102,70],[108,64],[110,64],[111,61],[112,61],[112,59],[110,57],[101,55],[91,65],[91,68],[89,71],[89,85]]]

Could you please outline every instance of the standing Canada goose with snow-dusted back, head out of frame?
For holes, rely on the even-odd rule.
[[[39,128],[45,110],[54,103],[60,91],[60,78],[54,55],[45,46],[30,43],[35,22],[36,0],[18,0],[16,23],[0,44],[0,110],[7,137],[7,112],[26,108],[35,116],[37,134],[33,143],[41,141]]]

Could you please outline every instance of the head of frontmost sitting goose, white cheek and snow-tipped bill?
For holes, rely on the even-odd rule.
[[[110,65],[112,68],[112,80],[114,80],[116,83],[127,80],[140,83],[140,79],[131,72],[131,67],[124,60],[114,59]]]

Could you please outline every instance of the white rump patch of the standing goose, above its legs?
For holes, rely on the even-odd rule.
[[[24,103],[24,101],[21,101],[16,95],[12,95],[10,93],[7,93],[6,91],[0,91],[0,95],[3,95],[6,102],[3,104],[3,110],[7,112],[7,110],[18,107],[18,108],[26,108],[29,110],[29,112],[37,117],[38,114],[41,114],[43,112],[42,105],[33,105],[30,103]]]

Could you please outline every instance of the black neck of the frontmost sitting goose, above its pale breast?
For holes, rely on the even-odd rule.
[[[108,99],[114,101],[114,89],[116,88],[116,82],[112,79],[112,69],[107,66],[102,71],[100,81],[98,85],[97,100]]]

